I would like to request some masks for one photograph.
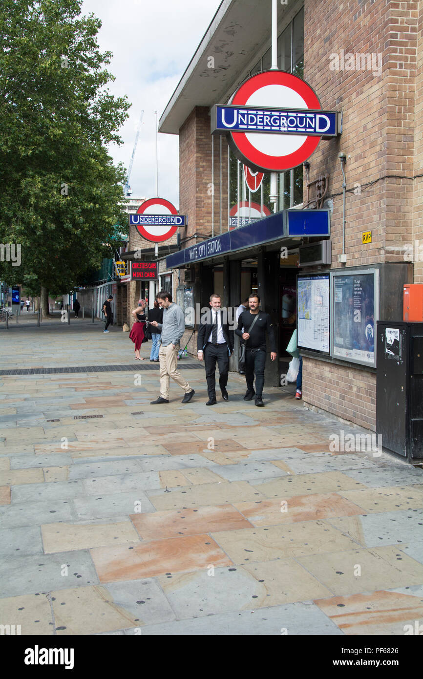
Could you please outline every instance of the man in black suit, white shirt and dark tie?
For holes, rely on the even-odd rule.
[[[229,330],[227,318],[222,318],[221,296],[213,294],[210,297],[210,323],[200,323],[197,337],[198,360],[206,367],[208,401],[206,405],[215,405],[216,400],[216,361],[219,367],[219,386],[224,401],[229,399],[226,391],[227,376],[229,375],[229,356],[234,351],[234,331]],[[225,322],[226,321],[226,322]]]

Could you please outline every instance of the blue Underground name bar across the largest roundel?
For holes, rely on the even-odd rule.
[[[250,106],[213,107],[211,133],[277,132],[308,136],[337,136],[336,111],[310,109],[269,109]]]

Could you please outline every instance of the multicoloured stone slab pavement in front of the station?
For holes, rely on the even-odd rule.
[[[171,384],[150,405],[158,366],[99,322],[0,329],[0,343],[2,370],[104,369],[0,376],[0,624],[403,635],[423,619],[423,471],[329,447],[363,430],[290,389],[257,408],[234,373],[229,401],[206,407],[194,359],[180,363],[194,399]]]

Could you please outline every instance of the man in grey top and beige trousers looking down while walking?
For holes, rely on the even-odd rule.
[[[153,320],[151,325],[162,331],[162,344],[159,351],[160,397],[151,401],[151,405],[169,403],[169,378],[172,378],[185,391],[182,403],[188,403],[195,392],[177,370],[179,344],[185,332],[183,310],[172,302],[172,295],[166,291],[158,293],[157,301],[163,308],[163,323]]]

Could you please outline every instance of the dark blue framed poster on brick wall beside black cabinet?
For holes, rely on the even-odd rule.
[[[375,274],[333,276],[333,356],[375,364]]]

